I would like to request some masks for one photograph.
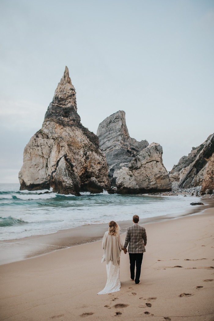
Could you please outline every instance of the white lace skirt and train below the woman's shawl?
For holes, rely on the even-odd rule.
[[[120,261],[113,265],[112,261],[106,264],[107,282],[105,288],[98,294],[107,294],[120,291]]]

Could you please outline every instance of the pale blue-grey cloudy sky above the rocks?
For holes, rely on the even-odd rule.
[[[0,183],[68,66],[83,126],[118,110],[171,170],[214,132],[213,0],[0,0]]]

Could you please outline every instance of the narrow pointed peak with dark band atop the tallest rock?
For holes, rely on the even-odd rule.
[[[69,77],[67,66],[56,87],[53,100],[47,108],[45,121],[47,120],[55,120],[57,123],[80,123],[80,116],[77,114],[76,91]]]

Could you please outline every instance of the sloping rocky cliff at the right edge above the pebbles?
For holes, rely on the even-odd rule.
[[[180,188],[202,186],[201,191],[214,189],[214,134],[204,143],[193,147],[188,156],[183,156],[170,171],[170,178],[179,180]]]

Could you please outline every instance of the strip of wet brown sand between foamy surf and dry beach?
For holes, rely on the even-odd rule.
[[[176,196],[175,196],[176,197]],[[151,218],[140,219],[141,225],[178,219],[189,215],[197,215],[206,209],[214,207],[214,198],[200,197],[204,205],[193,206],[186,213],[167,214]],[[126,232],[132,220],[118,221],[121,234]],[[26,260],[32,257],[45,255],[57,250],[96,242],[103,238],[108,229],[108,223],[82,225],[73,229],[59,230],[55,233],[29,236],[22,239],[0,241],[0,265]]]

